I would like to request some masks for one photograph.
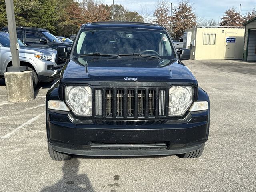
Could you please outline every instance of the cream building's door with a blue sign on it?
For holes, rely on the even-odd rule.
[[[235,58],[236,52],[236,33],[226,33],[226,48],[224,49],[224,58]]]

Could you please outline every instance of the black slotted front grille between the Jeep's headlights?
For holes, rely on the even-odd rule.
[[[166,117],[168,114],[168,88],[95,88],[94,93],[95,117],[137,119]]]

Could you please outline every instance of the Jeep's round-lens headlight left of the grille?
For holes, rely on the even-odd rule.
[[[66,103],[78,116],[92,116],[92,89],[88,86],[66,86]]]

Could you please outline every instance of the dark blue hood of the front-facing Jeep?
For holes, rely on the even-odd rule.
[[[130,79],[129,79],[130,78]],[[136,78],[136,79],[135,79]],[[192,72],[178,60],[142,57],[93,57],[72,58],[64,66],[60,80],[114,81],[114,82],[169,82],[192,81]]]

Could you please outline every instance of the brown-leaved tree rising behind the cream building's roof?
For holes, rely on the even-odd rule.
[[[225,15],[221,18],[220,26],[243,26],[244,22],[244,16],[239,16],[239,12],[237,12],[234,8],[230,8],[229,10],[225,11]]]

